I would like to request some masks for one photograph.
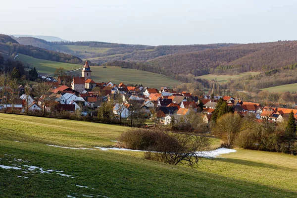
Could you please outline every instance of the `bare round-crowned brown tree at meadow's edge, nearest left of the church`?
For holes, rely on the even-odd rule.
[[[46,106],[49,104],[51,99],[49,98],[49,95],[51,93],[52,84],[51,83],[39,83],[36,88],[34,88],[34,92],[37,96],[40,97],[40,100],[42,102],[43,110],[42,110],[42,116],[45,116]]]

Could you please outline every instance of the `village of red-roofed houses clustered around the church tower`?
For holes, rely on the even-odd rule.
[[[235,113],[242,116],[252,115],[257,119],[266,118],[271,121],[283,121],[293,110],[297,118],[297,109],[262,107],[259,103],[247,102],[230,96],[193,96],[189,92],[177,93],[167,87],[161,87],[158,90],[142,85],[126,86],[124,83],[118,85],[111,82],[96,83],[92,80],[92,71],[88,61],[83,67],[82,77],[73,78],[71,88],[65,85],[57,85],[62,83],[61,78],[58,78],[58,82],[53,84],[51,94],[44,96],[51,101],[46,106],[46,110],[75,111],[81,110],[83,107],[96,109],[103,102],[110,101],[117,96],[121,100],[112,100],[113,113],[116,117],[128,118],[131,111],[135,110],[132,105],[137,104],[138,111],[141,111],[147,118],[154,114],[159,122],[164,125],[170,124],[173,117],[178,120],[191,111],[197,112],[198,110],[203,112],[203,121],[208,123],[217,106],[217,100],[222,98],[234,108]],[[96,87],[99,88],[100,93],[94,90]],[[28,103],[28,110],[30,111],[42,110],[42,99],[33,99],[31,96],[21,94],[24,91],[23,86],[20,86],[19,90],[20,98],[13,102],[15,110],[24,112],[26,103]],[[11,105],[6,104],[5,108],[9,111],[12,108]]]

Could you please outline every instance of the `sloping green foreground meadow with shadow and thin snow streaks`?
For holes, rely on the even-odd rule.
[[[125,127],[0,114],[0,128],[0,197],[297,197],[296,156],[238,149],[195,169],[145,160],[143,152],[47,145],[112,147]]]

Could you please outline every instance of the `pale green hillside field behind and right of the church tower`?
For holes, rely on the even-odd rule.
[[[136,69],[123,69],[121,67],[97,67],[91,66],[92,79],[95,82],[108,82],[119,84],[143,84],[147,87],[157,88],[160,87],[174,87],[180,84],[179,81],[170,79],[160,74],[154,74],[147,71],[141,71]],[[75,75],[81,75],[81,71],[73,72]]]

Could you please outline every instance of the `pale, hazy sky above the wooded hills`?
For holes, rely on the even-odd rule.
[[[297,0],[0,1],[0,34],[153,46],[297,40]]]

